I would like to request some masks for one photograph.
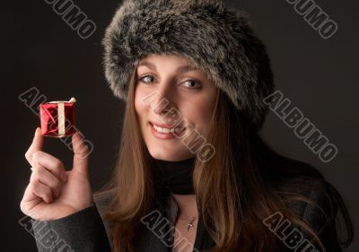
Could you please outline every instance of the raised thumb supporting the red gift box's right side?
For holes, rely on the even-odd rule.
[[[89,147],[83,142],[83,135],[77,131],[72,136],[72,143],[74,149],[74,168],[76,172],[88,177],[89,159],[90,154]]]

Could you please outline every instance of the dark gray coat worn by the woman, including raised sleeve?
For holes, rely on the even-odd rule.
[[[320,186],[312,185],[308,190],[301,191],[303,196],[308,196],[309,199],[315,204],[318,204],[320,208],[302,202],[288,204],[288,208],[293,213],[302,216],[302,220],[310,223],[311,227],[319,233],[320,239],[327,249],[327,252],[340,252],[342,249],[337,242],[337,232],[334,222],[336,214],[331,213],[332,206],[328,203],[327,197],[325,196],[326,189],[326,187],[320,184]],[[111,243],[108,239],[110,223],[103,222],[100,215],[108,203],[109,199],[95,199],[94,204],[64,218],[49,222],[32,220],[33,232],[39,252],[111,251]],[[173,246],[171,234],[173,234],[174,220],[176,220],[178,213],[177,204],[170,195],[169,197],[159,196],[154,205],[156,205],[156,207],[153,209],[153,212],[144,216],[142,228],[136,237],[136,251],[138,252],[169,252],[171,251],[171,246]],[[163,207],[164,205],[165,207]],[[324,210],[324,212],[320,209]],[[267,221],[259,224],[263,224],[264,228],[274,231],[275,229],[270,223],[274,222],[275,219],[277,221],[278,219],[276,217],[278,216],[280,216],[280,214],[274,214],[272,219],[269,217]],[[153,223],[154,219],[156,221]],[[301,233],[297,231],[296,234],[298,234],[298,232],[299,234]],[[295,235],[295,232],[292,234]],[[299,249],[301,244],[303,248],[305,247],[305,237],[303,237],[302,243],[298,242],[295,247],[289,241],[290,235],[287,236],[288,239],[280,237],[280,233],[276,233],[276,235],[278,239],[282,239],[283,241],[283,249],[281,251],[294,251],[296,248]],[[199,215],[194,247],[194,251],[202,251],[215,247],[215,242],[209,237],[204,228],[201,215]],[[312,250],[304,251],[314,250],[313,248]],[[295,251],[302,251],[302,248],[301,250]],[[318,249],[318,251],[320,251],[320,249]]]

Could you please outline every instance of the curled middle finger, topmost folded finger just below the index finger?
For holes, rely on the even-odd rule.
[[[32,167],[37,166],[48,169],[58,180],[66,181],[66,170],[62,161],[47,152],[37,151],[32,154]]]

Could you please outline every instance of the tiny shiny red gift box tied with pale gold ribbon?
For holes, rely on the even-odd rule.
[[[74,105],[76,100],[57,100],[39,105],[41,133],[44,136],[74,135]]]

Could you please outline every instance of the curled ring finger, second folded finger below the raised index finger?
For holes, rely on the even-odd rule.
[[[41,184],[48,186],[52,190],[53,198],[60,196],[61,181],[57,179],[48,169],[37,166],[32,168],[30,182],[38,180]]]

